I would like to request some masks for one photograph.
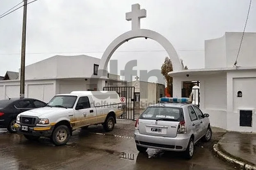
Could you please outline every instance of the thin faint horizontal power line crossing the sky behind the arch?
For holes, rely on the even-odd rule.
[[[163,52],[165,50],[130,50],[130,51],[115,51],[115,52]],[[204,51],[204,50],[178,50],[178,51]],[[72,54],[72,53],[103,53],[104,51],[79,51],[79,52],[40,52],[40,53],[26,53],[26,54]],[[9,53],[0,55],[18,55],[20,53]]]

